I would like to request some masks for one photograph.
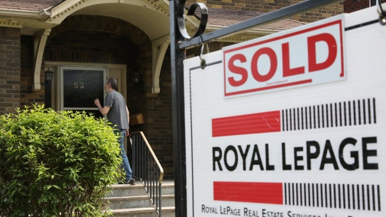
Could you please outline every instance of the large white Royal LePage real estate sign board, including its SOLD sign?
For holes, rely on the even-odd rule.
[[[188,217],[385,217],[375,7],[184,62]]]

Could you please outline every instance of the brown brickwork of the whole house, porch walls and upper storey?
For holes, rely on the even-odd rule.
[[[197,0],[208,8],[227,11],[270,12],[301,0]],[[52,2],[54,2],[52,0]],[[60,0],[56,1],[61,2]],[[196,0],[187,0],[187,6]],[[369,0],[345,0],[320,9],[305,12],[292,19],[307,23],[369,6]],[[383,0],[385,2],[385,0]],[[53,5],[53,4],[52,4]],[[0,0],[0,8],[3,5]],[[1,11],[0,11],[1,12]],[[140,19],[140,18],[139,18]],[[5,21],[3,21],[5,22]],[[12,23],[2,25],[0,19],[0,114],[14,112],[33,103],[45,102],[44,73],[40,74],[39,90],[34,90],[33,35],[23,34]],[[209,43],[210,51],[235,42]],[[68,16],[50,29],[42,58],[45,62],[72,62],[87,64],[126,65],[127,103],[131,114],[143,113],[145,124],[132,126],[131,131],[144,131],[164,168],[164,178],[173,178],[173,133],[170,48],[165,53],[159,74],[158,94],[152,93],[152,40],[146,33],[119,18],[102,15],[76,14]],[[187,55],[197,55],[197,49]],[[144,90],[130,81],[132,73],[143,75]]]

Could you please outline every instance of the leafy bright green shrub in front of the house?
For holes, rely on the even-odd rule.
[[[0,217],[101,217],[121,177],[118,135],[86,113],[43,105],[0,116]]]

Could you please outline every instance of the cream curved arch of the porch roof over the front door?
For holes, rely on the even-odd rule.
[[[47,24],[60,24],[71,15],[101,15],[122,19],[151,41],[169,34],[169,2],[165,0],[65,0],[51,9]]]

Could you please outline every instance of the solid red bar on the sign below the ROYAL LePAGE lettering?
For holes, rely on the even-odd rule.
[[[217,201],[283,204],[283,184],[214,181],[213,199]]]

